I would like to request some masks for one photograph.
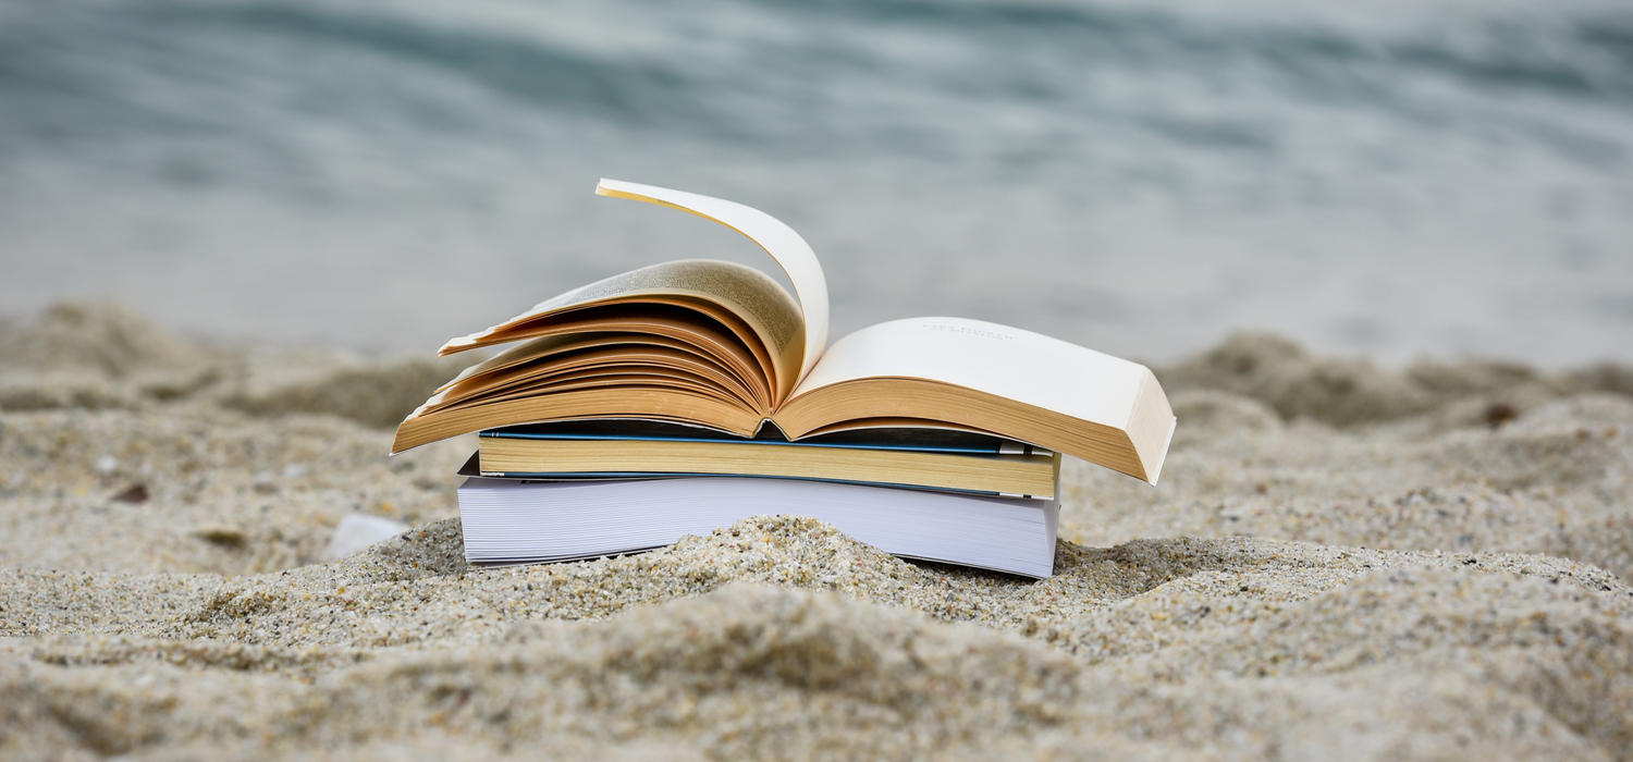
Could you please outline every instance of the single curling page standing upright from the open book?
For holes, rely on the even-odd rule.
[[[712,196],[606,178],[596,186],[596,193],[671,206],[696,214],[746,235],[766,250],[794,282],[794,295],[799,299],[805,318],[800,375],[810,372],[816,357],[821,356],[823,346],[828,344],[828,279],[821,274],[816,253],[805,243],[805,238],[800,238],[800,233],[759,209]]]

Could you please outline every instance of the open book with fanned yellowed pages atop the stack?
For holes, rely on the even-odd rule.
[[[1145,365],[965,318],[906,318],[828,346],[810,245],[732,201],[603,179],[601,196],[727,225],[794,284],[735,263],[653,264],[570,290],[441,354],[518,343],[470,365],[397,428],[392,452],[523,423],[634,418],[789,439],[869,428],[996,434],[1156,483],[1174,434]]]

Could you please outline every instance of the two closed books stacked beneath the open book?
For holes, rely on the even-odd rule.
[[[668,545],[756,514],[826,521],[913,558],[1048,576],[1060,455],[985,434],[789,442],[666,424],[482,432],[459,491],[465,555],[557,561]]]

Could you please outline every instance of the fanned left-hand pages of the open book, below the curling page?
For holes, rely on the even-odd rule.
[[[745,264],[684,259],[614,276],[456,339],[451,351],[513,344],[438,388],[398,426],[392,452],[562,418],[751,434],[794,385],[800,330],[787,292]]]

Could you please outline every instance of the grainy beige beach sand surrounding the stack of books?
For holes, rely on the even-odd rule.
[[[0,326],[0,757],[1633,754],[1626,365],[1233,338],[1042,583],[797,517],[467,568],[470,441],[384,457],[452,369]],[[349,512],[415,529],[325,563]]]

